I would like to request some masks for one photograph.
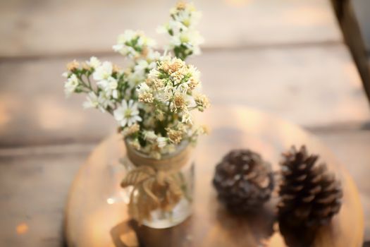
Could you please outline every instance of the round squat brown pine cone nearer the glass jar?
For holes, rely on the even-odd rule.
[[[269,200],[273,174],[269,163],[250,150],[232,150],[216,166],[214,186],[228,210],[244,213]]]

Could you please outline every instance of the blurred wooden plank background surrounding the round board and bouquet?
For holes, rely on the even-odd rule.
[[[66,100],[66,63],[118,64],[125,29],[168,20],[169,0],[0,0],[0,246],[61,246],[63,208],[80,164],[115,131],[107,114]],[[300,124],[354,177],[370,241],[370,1],[195,1],[202,71],[214,105],[245,105]],[[366,48],[367,47],[367,48]]]

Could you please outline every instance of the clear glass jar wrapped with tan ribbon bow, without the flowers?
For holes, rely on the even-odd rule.
[[[139,223],[156,229],[173,227],[192,214],[194,161],[189,143],[154,159],[125,143],[125,203]]]

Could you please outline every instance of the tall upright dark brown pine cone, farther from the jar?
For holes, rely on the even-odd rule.
[[[317,155],[306,147],[293,146],[283,154],[278,217],[285,224],[314,227],[330,222],[339,212],[343,196],[339,181],[328,173],[326,164],[315,164]]]

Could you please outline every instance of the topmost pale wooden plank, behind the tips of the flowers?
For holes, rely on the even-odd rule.
[[[175,1],[1,1],[0,57],[109,52],[125,29],[156,35]],[[328,0],[197,1],[206,47],[342,42]]]

